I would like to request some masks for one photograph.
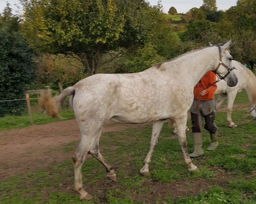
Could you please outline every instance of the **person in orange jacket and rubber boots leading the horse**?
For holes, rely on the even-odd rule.
[[[191,158],[198,157],[204,155],[204,151],[202,149],[202,121],[203,118],[205,120],[204,128],[209,131],[211,137],[211,144],[207,147],[207,150],[214,150],[218,147],[218,139],[217,139],[217,130],[218,127],[215,125],[215,100],[214,100],[214,92],[217,89],[216,83],[209,88],[202,91],[204,88],[212,84],[216,81],[216,76],[212,71],[208,71],[204,74],[204,77],[200,79],[200,81],[194,87],[194,101],[191,106],[191,120],[192,120],[192,135],[193,135],[193,143],[194,143],[194,152],[189,154]],[[201,95],[201,101],[199,106],[199,121],[198,124],[198,110],[197,110],[197,100],[199,94]],[[200,128],[201,127],[201,128]]]

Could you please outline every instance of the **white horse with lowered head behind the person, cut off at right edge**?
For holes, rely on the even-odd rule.
[[[236,127],[237,125],[232,122],[231,113],[233,104],[236,98],[236,94],[241,92],[243,89],[246,91],[250,101],[250,113],[256,120],[256,77],[252,71],[241,65],[241,63],[232,60],[232,66],[236,69],[234,73],[238,78],[238,83],[234,87],[229,87],[227,82],[221,80],[217,83],[217,89],[215,94],[218,95],[216,102],[216,110],[221,106],[222,102],[227,98],[227,122],[229,127]]]

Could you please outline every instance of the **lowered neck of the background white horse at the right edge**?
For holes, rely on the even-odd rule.
[[[247,74],[246,77],[243,77],[245,79],[245,91],[249,97],[249,101],[251,106],[256,105],[256,77],[254,74],[248,73],[248,71],[245,71]]]

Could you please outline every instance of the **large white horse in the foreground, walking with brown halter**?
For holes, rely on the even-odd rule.
[[[209,46],[190,51],[167,62],[134,74],[96,74],[66,88],[52,100],[42,94],[40,104],[49,116],[56,117],[63,100],[70,95],[70,105],[81,131],[81,142],[73,155],[75,190],[80,199],[91,196],[82,187],[81,167],[91,154],[106,168],[108,177],[116,181],[111,164],[99,152],[102,127],[109,119],[125,123],[153,122],[151,146],[140,170],[148,175],[148,165],[166,119],[177,124],[183,157],[189,171],[198,171],[187,151],[187,111],[193,102],[193,87],[209,71],[226,76],[229,86],[237,84],[231,71],[231,40],[223,46]],[[231,71],[231,72],[230,72]]]

